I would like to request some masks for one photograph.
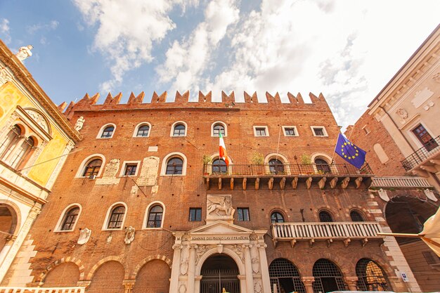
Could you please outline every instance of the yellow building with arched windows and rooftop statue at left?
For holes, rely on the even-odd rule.
[[[47,202],[66,155],[79,133],[26,70],[22,60],[0,41],[0,281],[32,281],[33,256],[27,233]],[[20,254],[18,250],[20,249]],[[13,266],[14,271],[6,271]]]

